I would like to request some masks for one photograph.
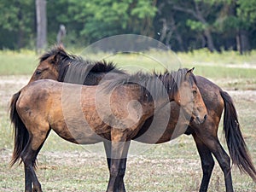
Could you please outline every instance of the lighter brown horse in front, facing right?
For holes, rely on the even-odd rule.
[[[203,123],[207,109],[191,70],[148,75],[136,73],[96,86],[67,84],[44,79],[20,90],[15,103],[26,130],[15,130],[15,156],[25,165],[26,191],[42,191],[33,167],[50,130],[72,143],[104,142],[110,178],[107,191],[119,189],[120,168],[125,166],[130,141],[145,120],[170,101],[182,106],[195,123]],[[24,128],[23,127],[23,128]],[[21,132],[23,131],[23,132]],[[19,150],[17,150],[19,148]],[[125,173],[125,172],[124,172]],[[124,176],[124,174],[123,174]]]

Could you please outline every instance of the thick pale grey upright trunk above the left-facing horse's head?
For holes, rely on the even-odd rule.
[[[47,47],[47,17],[46,1],[36,0],[37,12],[37,53],[41,53]]]

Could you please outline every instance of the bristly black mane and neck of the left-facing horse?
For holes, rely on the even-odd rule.
[[[50,56],[54,56],[51,63],[56,65],[59,73],[57,80],[61,82],[86,84],[87,75],[97,78],[101,73],[125,73],[113,62],[84,60],[80,56],[68,54],[62,46],[56,46],[46,52],[40,57],[40,62],[49,59]],[[82,79],[84,82],[81,81]],[[97,84],[97,82],[90,84]]]

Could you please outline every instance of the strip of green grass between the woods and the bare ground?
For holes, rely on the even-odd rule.
[[[128,71],[156,70],[161,71],[165,67],[177,69],[178,67],[195,67],[195,73],[208,78],[253,78],[256,73],[256,50],[250,54],[239,55],[234,51],[226,51],[222,54],[210,53],[207,50],[195,50],[193,53],[173,53],[149,51],[145,54],[98,54],[86,55],[85,58],[94,60],[106,59],[114,61],[119,67]],[[31,75],[38,65],[39,55],[29,50],[14,52],[10,50],[0,51],[0,75]],[[232,64],[232,67],[230,67]],[[253,68],[244,68],[244,64]],[[229,66],[227,66],[229,65]]]

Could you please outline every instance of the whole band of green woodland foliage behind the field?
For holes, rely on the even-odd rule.
[[[2,0],[0,9],[0,49],[33,48],[35,2]],[[246,31],[256,48],[256,0],[47,0],[47,20],[49,45],[64,24],[64,44],[72,47],[134,33],[161,39],[174,50],[204,48],[208,38],[218,50],[237,49],[236,38]],[[166,37],[160,37],[164,27]]]

